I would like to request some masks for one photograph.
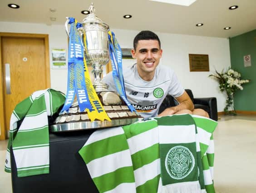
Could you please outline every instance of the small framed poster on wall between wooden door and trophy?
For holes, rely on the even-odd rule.
[[[51,49],[51,68],[53,69],[67,68],[67,51],[65,48]]]

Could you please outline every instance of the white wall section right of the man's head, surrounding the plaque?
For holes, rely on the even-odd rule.
[[[231,66],[229,40],[161,33],[162,64],[172,67],[184,88],[192,89],[194,97],[217,97],[218,111],[223,111],[225,95],[216,80],[208,75]],[[208,54],[210,72],[190,72],[188,54]]]

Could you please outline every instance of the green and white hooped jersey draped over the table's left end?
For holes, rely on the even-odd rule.
[[[34,92],[16,105],[10,118],[5,171],[11,172],[12,146],[18,177],[49,173],[48,117],[64,104],[65,96],[53,89]],[[22,120],[19,128],[17,122]]]

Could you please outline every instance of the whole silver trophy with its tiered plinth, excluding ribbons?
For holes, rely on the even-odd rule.
[[[137,112],[130,112],[128,106],[118,94],[108,91],[108,85],[101,82],[102,66],[109,62],[108,52],[108,24],[95,15],[94,4],[89,7],[90,14],[78,28],[81,42],[84,48],[84,56],[88,66],[92,66],[94,74],[94,89],[111,121],[89,120],[86,110],[80,112],[77,101],[74,101],[68,113],[59,115],[51,125],[52,132],[74,131],[84,129],[96,129],[103,127],[117,127],[136,122],[142,118]],[[69,35],[69,18],[65,23],[66,32]],[[85,41],[84,41],[85,40]]]

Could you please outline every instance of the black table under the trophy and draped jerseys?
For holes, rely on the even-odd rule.
[[[98,193],[78,151],[94,130],[50,133],[50,173],[17,177],[11,150],[13,193]]]

